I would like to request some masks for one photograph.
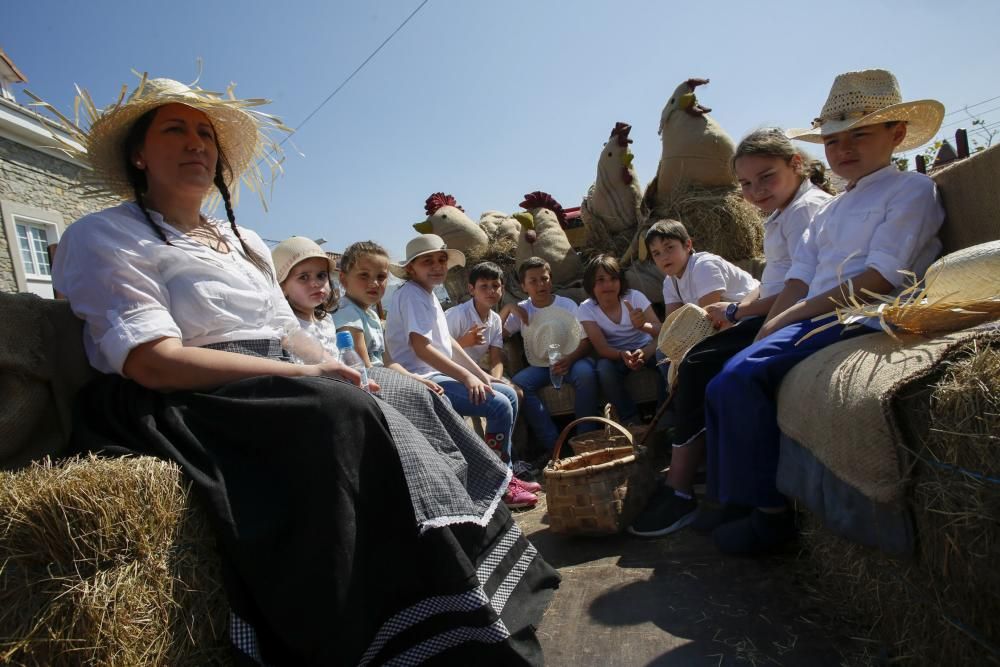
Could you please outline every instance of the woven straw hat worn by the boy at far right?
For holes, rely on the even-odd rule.
[[[837,76],[812,127],[790,129],[785,134],[789,139],[821,144],[824,137],[855,127],[904,121],[906,137],[895,148],[902,153],[933,139],[943,119],[944,105],[940,102],[903,102],[899,82],[892,72],[869,69]]]

